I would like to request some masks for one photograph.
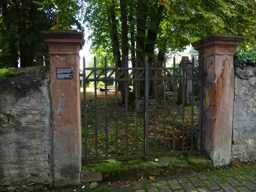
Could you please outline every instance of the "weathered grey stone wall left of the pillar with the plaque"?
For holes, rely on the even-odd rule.
[[[0,188],[52,183],[49,69],[0,82]]]

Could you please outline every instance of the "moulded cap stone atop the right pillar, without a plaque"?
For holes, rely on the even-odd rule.
[[[200,47],[207,47],[212,45],[229,45],[238,46],[244,40],[243,36],[235,36],[232,34],[221,34],[216,33],[208,37],[204,37],[201,41],[196,41],[192,43],[194,49],[199,49]]]

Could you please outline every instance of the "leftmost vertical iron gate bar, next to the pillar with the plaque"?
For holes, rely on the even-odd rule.
[[[87,156],[87,109],[86,109],[86,74],[85,74],[85,57],[82,58],[82,81],[83,81],[83,123],[84,123],[84,160],[88,164]]]

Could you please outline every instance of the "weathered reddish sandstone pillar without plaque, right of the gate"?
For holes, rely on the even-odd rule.
[[[213,34],[195,42],[205,57],[203,147],[214,166],[228,165],[231,157],[234,103],[234,52],[244,37]]]

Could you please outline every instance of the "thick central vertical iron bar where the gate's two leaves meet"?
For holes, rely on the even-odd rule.
[[[148,58],[145,58],[145,117],[144,117],[144,155],[148,160]]]

